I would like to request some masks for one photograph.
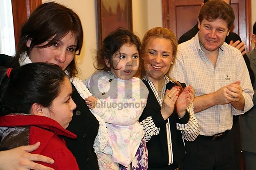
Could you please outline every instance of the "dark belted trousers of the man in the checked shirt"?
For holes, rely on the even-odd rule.
[[[235,170],[233,131],[216,139],[200,136],[193,142],[185,141],[184,170]]]

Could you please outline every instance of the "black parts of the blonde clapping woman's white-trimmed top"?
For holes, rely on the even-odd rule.
[[[146,107],[144,108],[141,117],[139,118],[139,122],[143,121],[149,116],[152,116],[153,122],[155,123],[157,128],[160,128],[159,134],[152,136],[151,139],[146,143],[149,152],[149,170],[151,168],[158,170],[170,169],[168,167],[169,155],[167,148],[167,134],[166,134],[166,123],[162,118],[161,107],[158,104],[155,95],[149,86],[149,83],[143,80],[146,87],[149,89],[149,96]],[[171,89],[174,83],[167,83],[166,89]],[[185,84],[182,83],[182,86],[185,87]],[[168,118],[171,126],[171,143],[173,150],[173,165],[178,166],[185,157],[185,147],[183,144],[181,131],[176,129],[176,123],[186,124],[189,120],[189,113],[186,112],[185,116],[182,119],[178,118],[176,111]]]

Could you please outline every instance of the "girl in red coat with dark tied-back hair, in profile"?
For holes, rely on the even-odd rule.
[[[76,107],[71,95],[69,78],[57,65],[0,67],[0,147],[11,149],[40,141],[33,153],[53,158],[55,163],[48,167],[79,170],[75,157],[59,137],[76,138],[65,130]]]

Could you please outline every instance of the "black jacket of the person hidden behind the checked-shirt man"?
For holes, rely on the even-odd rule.
[[[187,31],[185,34],[183,34],[179,40],[178,40],[178,44],[181,44],[182,42],[186,42],[188,40],[190,40],[191,38],[193,38],[197,32],[199,31],[197,25],[195,25],[192,29],[190,29],[189,31]],[[229,32],[229,36],[226,36],[226,39],[225,39],[225,42],[227,44],[230,43],[230,41],[233,40],[233,42],[236,42],[237,40],[240,40],[240,42],[242,42],[240,36],[238,36],[238,34],[235,34],[234,32]],[[250,60],[249,58],[247,57],[247,55],[243,55],[244,59],[245,59],[245,63],[246,63],[246,66],[247,66],[247,69],[249,71],[249,75],[250,75],[250,78],[251,78],[251,84],[254,83],[254,80],[255,80],[255,76],[254,76],[254,73],[251,69],[251,66],[250,66]]]

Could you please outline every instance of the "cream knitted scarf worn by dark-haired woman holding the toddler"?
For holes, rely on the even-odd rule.
[[[20,66],[23,66],[25,64],[32,63],[30,60],[29,56],[27,56],[27,53],[25,52],[24,54],[21,55],[19,59],[19,64]],[[68,76],[69,73],[68,71],[65,70],[66,75]],[[71,83],[75,86],[75,89],[77,92],[80,94],[80,96],[85,100],[88,96],[92,96],[91,92],[87,89],[84,83],[77,78],[77,77],[72,77],[69,79]],[[94,114],[94,112],[90,109],[91,113],[96,117],[96,119],[99,122],[99,129],[98,129],[98,134],[94,140],[94,152],[95,153],[100,153],[104,148],[107,146],[108,142],[108,131],[107,131],[107,125],[105,121],[98,116],[97,114]]]

